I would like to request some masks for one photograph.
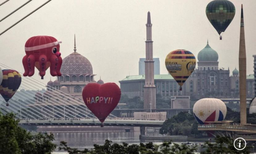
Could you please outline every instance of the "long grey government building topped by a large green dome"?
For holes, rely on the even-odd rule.
[[[197,68],[179,90],[179,85],[170,74],[154,75],[156,93],[165,99],[172,96],[201,98],[239,98],[239,71],[235,68],[230,75],[229,68],[219,67],[218,53],[207,41],[197,57]],[[247,98],[254,96],[254,75],[247,75]],[[143,98],[145,75],[126,76],[119,81],[122,95]]]

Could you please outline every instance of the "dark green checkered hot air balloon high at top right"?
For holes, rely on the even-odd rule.
[[[206,6],[206,16],[212,26],[217,30],[222,40],[221,33],[226,30],[236,13],[234,4],[228,0],[214,0]]]

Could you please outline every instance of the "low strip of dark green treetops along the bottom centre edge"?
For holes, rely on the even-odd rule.
[[[112,141],[106,140],[105,144],[94,144],[94,148],[90,151],[84,149],[83,151],[76,148],[70,148],[66,142],[61,142],[59,149],[65,150],[69,154],[194,154],[197,147],[190,147],[189,145],[173,144],[171,142],[164,142],[160,146],[154,145],[152,142],[139,145],[127,143],[112,144]]]

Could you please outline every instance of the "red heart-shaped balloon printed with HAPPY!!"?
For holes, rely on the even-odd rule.
[[[82,95],[85,105],[103,123],[117,106],[121,90],[115,83],[90,83],[84,87]]]

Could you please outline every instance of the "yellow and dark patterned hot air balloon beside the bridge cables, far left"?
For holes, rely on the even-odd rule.
[[[0,94],[6,101],[6,106],[9,106],[8,101],[15,94],[21,84],[20,73],[16,70],[4,69],[3,81],[0,85]]]

